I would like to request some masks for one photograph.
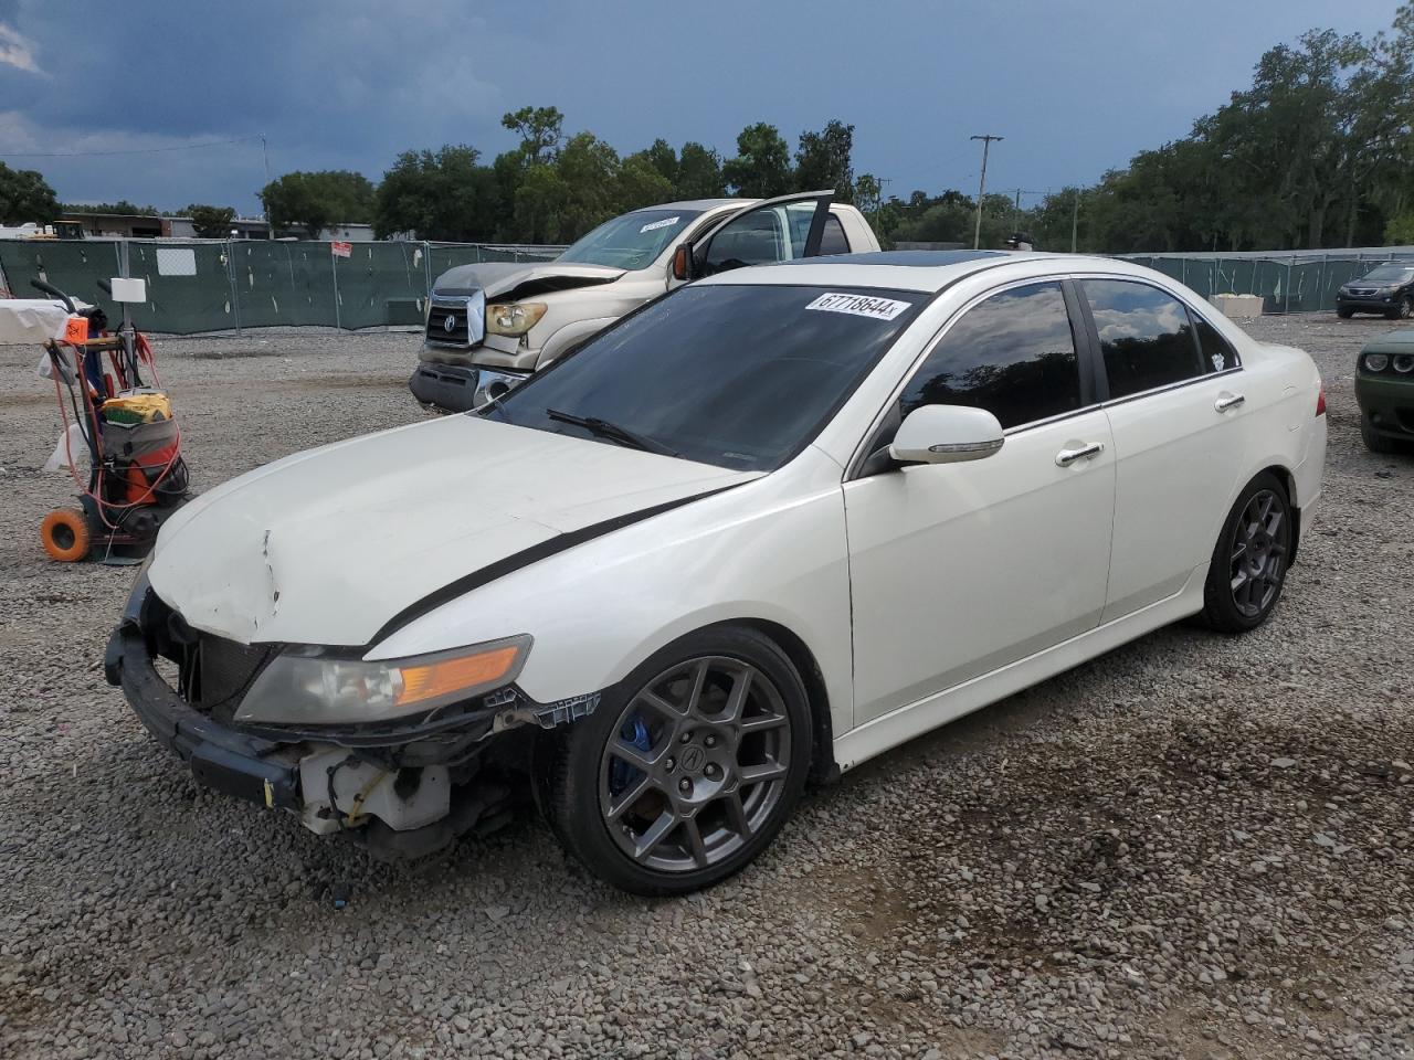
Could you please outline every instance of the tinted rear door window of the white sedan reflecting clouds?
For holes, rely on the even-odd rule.
[[[1082,280],[1100,332],[1110,397],[1126,397],[1203,375],[1188,308],[1157,287]]]

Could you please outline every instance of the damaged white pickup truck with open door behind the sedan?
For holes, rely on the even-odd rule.
[[[409,387],[424,406],[464,411],[701,276],[878,249],[864,215],[829,191],[636,209],[553,261],[468,264],[438,276]]]

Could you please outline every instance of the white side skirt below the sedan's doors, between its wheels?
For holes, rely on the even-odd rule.
[[[1203,609],[1203,582],[1208,564],[1195,567],[1184,588],[1124,618],[1106,622],[1080,636],[1036,652],[1000,670],[935,693],[923,700],[882,714],[850,729],[834,741],[834,760],[840,770],[850,770],[875,755],[896,748],[913,736],[946,725],[964,714],[988,707],[1022,688],[1086,663],[1096,656],[1135,640],[1145,633],[1196,615]]]

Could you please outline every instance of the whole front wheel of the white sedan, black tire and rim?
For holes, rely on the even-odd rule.
[[[810,746],[789,657],[755,630],[715,626],[655,653],[557,738],[544,808],[594,875],[682,895],[771,844],[805,789]]]

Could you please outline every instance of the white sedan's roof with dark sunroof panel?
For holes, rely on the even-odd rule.
[[[1151,270],[1131,261],[1087,254],[1046,254],[1017,250],[880,250],[867,254],[829,254],[735,269],[699,280],[699,283],[889,287],[899,291],[935,294],[966,276],[1008,264],[1035,266],[1036,276],[1070,270],[1154,276]]]

